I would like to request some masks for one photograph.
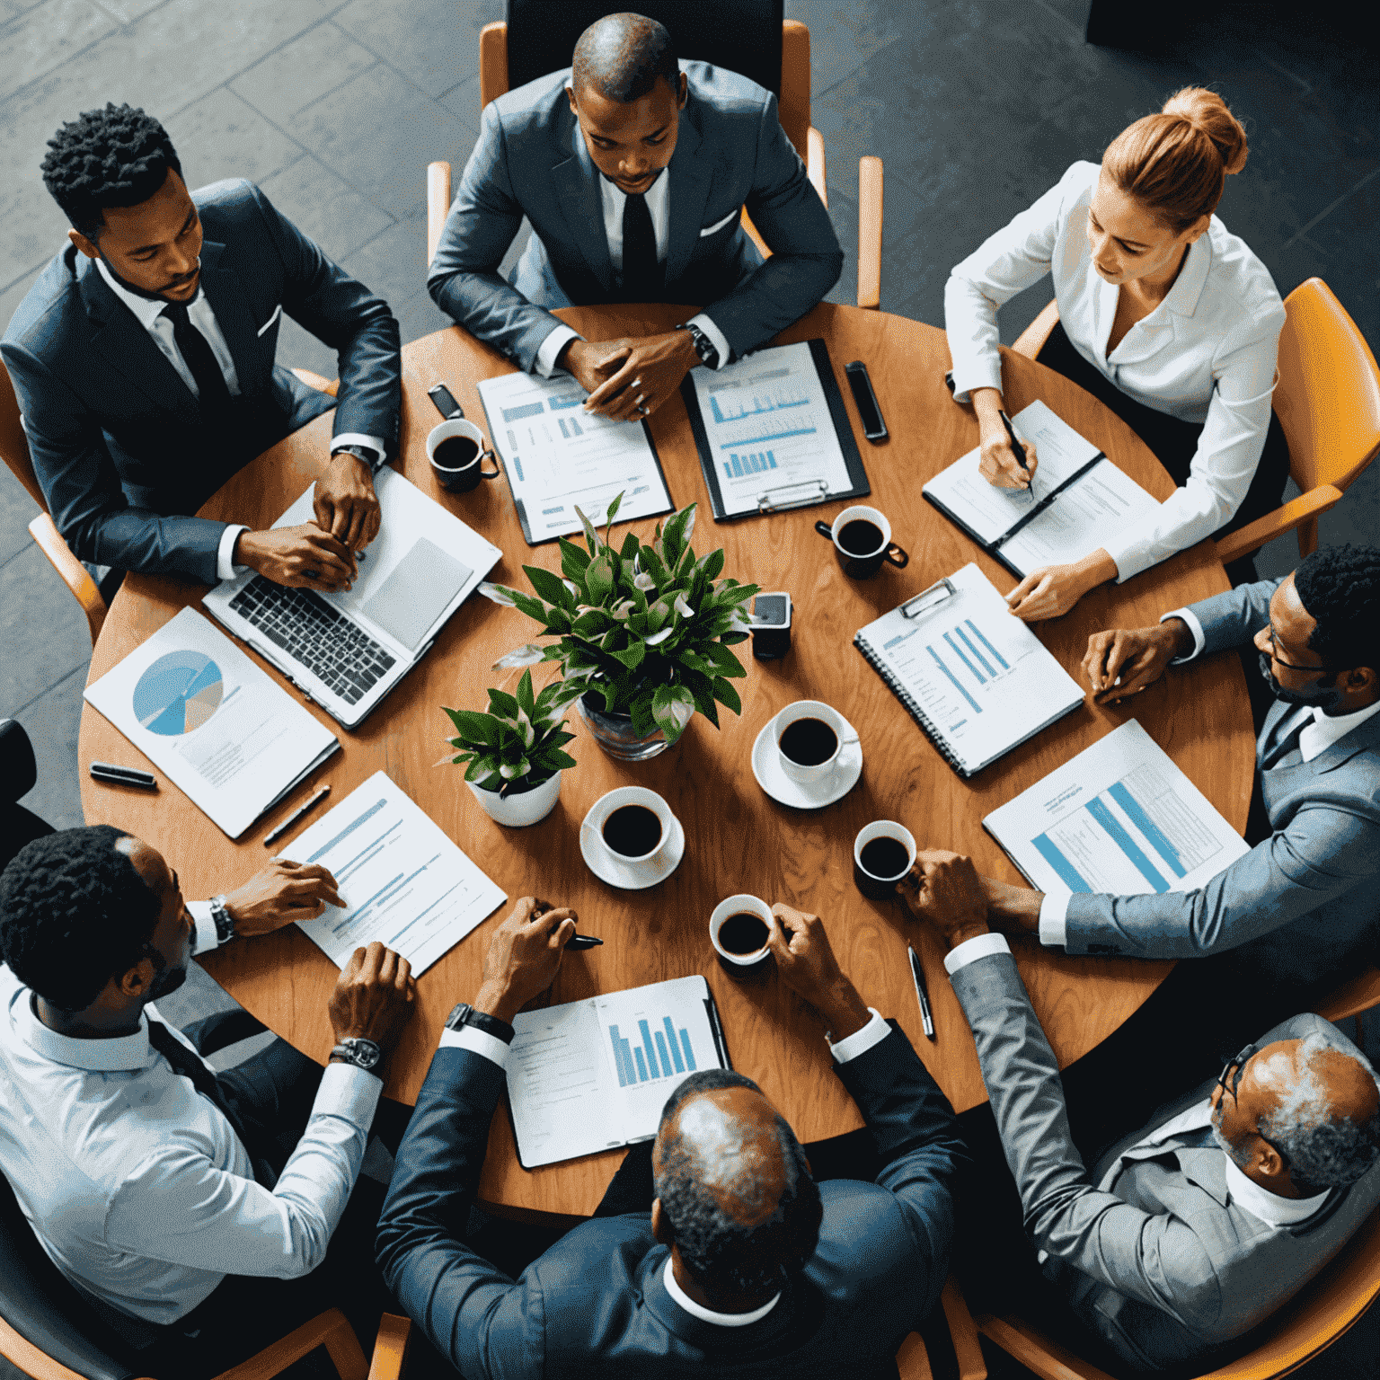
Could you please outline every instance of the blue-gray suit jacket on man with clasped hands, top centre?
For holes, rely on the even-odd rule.
[[[810,310],[838,282],[843,251],[776,97],[724,68],[682,68],[690,97],[668,166],[662,299],[705,308],[738,356]],[[426,279],[465,330],[524,370],[559,324],[548,306],[620,299],[599,171],[566,99],[569,77],[569,68],[553,72],[484,108]],[[740,225],[744,204],[771,247],[765,264]],[[533,236],[509,286],[498,265],[524,215]]]

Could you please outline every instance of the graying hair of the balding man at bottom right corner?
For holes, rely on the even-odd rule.
[[[1326,1032],[1310,1032],[1299,1045],[1299,1082],[1259,1122],[1260,1134],[1288,1158],[1293,1184],[1304,1194],[1354,1184],[1380,1161],[1380,1111],[1363,1122],[1332,1112],[1318,1068],[1328,1052],[1357,1058],[1334,1045]],[[1374,1078],[1365,1057],[1358,1063]]]

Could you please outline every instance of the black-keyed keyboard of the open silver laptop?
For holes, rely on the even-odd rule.
[[[393,665],[379,643],[312,589],[288,589],[255,575],[230,607],[346,704],[359,704]]]

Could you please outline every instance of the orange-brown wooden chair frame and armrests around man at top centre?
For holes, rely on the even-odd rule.
[[[727,19],[726,19],[727,22]],[[508,91],[508,25],[486,23],[479,34],[479,108]],[[810,124],[810,30],[799,19],[781,25],[781,94],[777,102],[781,128],[805,159],[806,172],[820,200],[828,207],[824,137]],[[882,298],[882,160],[865,157],[858,164],[858,306],[875,310]],[[446,213],[450,210],[450,164],[426,167],[426,262],[436,257]],[[748,214],[742,225],[763,255],[770,250]]]

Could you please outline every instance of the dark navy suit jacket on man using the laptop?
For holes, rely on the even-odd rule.
[[[0,339],[52,520],[81,560],[215,581],[225,524],[185,516],[290,431],[335,408],[335,433],[397,444],[402,359],[388,305],[333,264],[251,182],[192,193],[201,288],[240,396],[213,428],[92,259],[68,246]],[[287,312],[339,353],[339,396],[276,368]]]

